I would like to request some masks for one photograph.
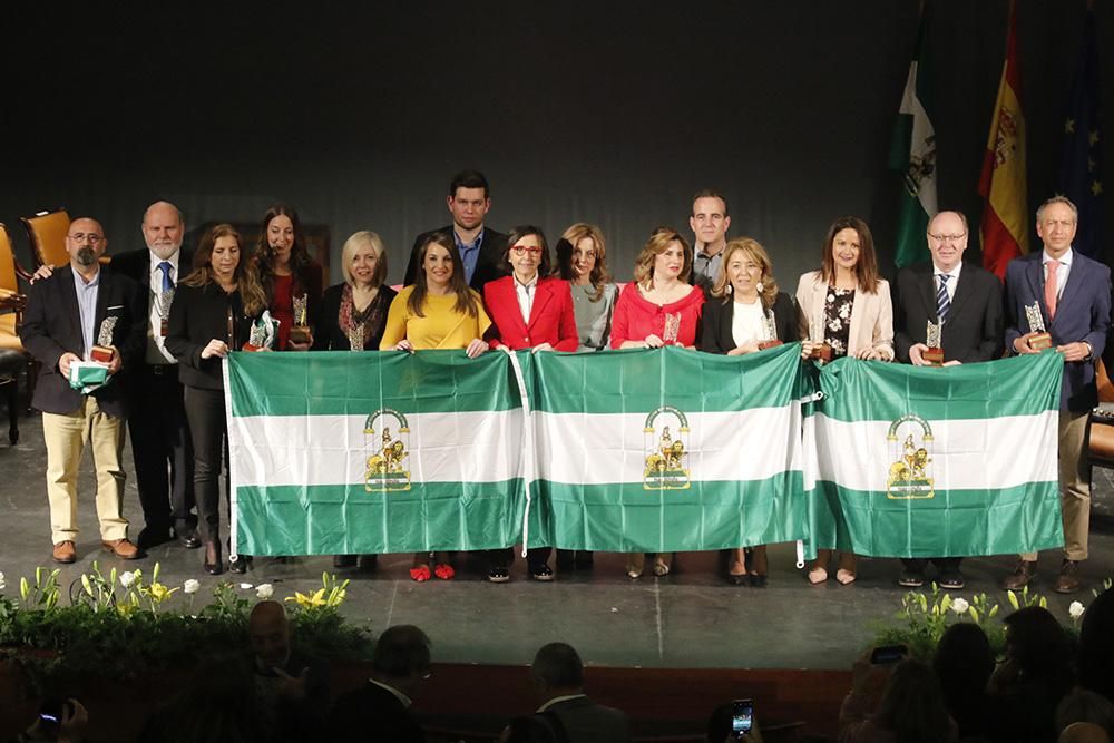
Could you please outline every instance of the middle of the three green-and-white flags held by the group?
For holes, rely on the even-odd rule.
[[[555,546],[673,551],[801,539],[801,346],[534,356]],[[532,540],[531,540],[532,541]]]

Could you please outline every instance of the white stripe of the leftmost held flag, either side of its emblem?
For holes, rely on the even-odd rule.
[[[252,416],[232,418],[229,452],[241,486],[363,482],[381,440],[363,432],[368,416]],[[522,411],[412,413],[411,482],[500,482],[519,475]],[[398,439],[399,431],[391,431]]]

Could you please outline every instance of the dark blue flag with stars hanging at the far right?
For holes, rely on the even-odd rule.
[[[1087,11],[1083,53],[1072,82],[1072,102],[1064,120],[1061,192],[1079,208],[1078,232],[1073,247],[1105,261],[1103,247],[1103,135],[1098,101],[1098,49],[1095,13]]]

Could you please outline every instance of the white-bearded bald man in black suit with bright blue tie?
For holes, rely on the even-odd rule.
[[[128,377],[131,454],[136,466],[144,528],[139,547],[169,541],[201,546],[194,509],[194,452],[186,428],[178,365],[164,345],[174,287],[193,270],[193,253],[182,247],[182,212],[156,202],[143,216],[147,247],[113,256],[111,267],[139,283],[147,296],[147,343],[143,363]],[[173,529],[173,534],[172,534]]]

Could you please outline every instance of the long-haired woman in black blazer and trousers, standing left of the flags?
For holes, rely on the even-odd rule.
[[[266,294],[241,253],[240,233],[228,224],[206,232],[194,254],[193,273],[174,292],[166,349],[178,360],[178,379],[185,388],[186,420],[194,444],[197,520],[209,575],[224,571],[218,478],[222,453],[227,462],[228,422],[221,361],[247,341],[253,319],[266,306]],[[236,560],[229,568],[244,573],[247,560]]]

